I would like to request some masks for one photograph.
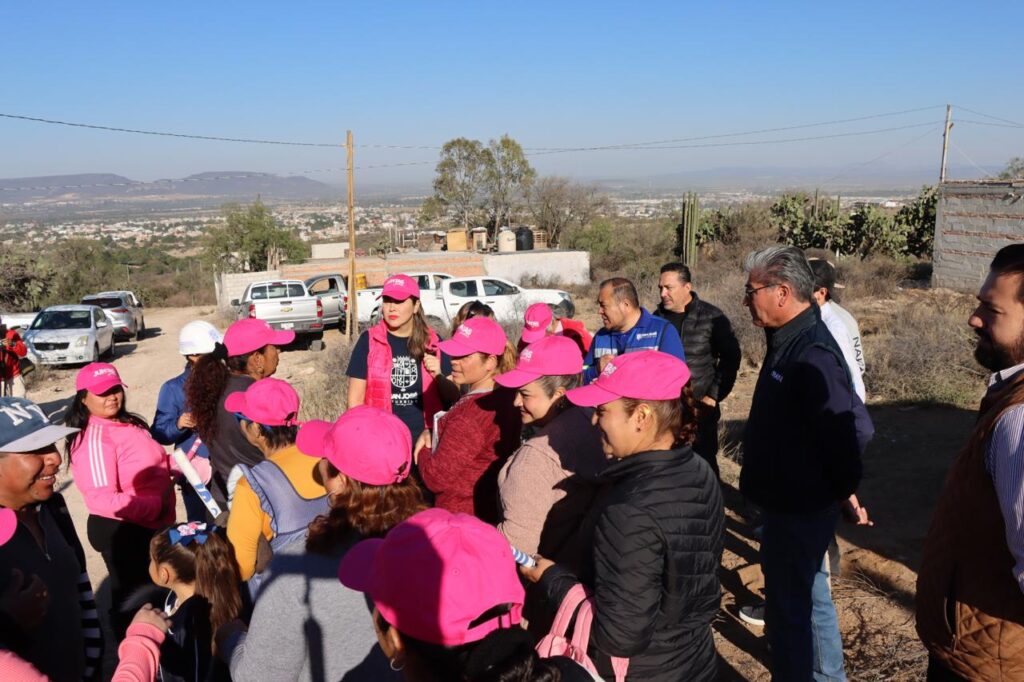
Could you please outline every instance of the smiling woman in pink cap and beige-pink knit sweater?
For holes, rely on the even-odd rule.
[[[548,336],[519,353],[516,368],[495,378],[515,390],[526,439],[498,474],[498,529],[517,549],[579,565],[572,542],[604,467],[601,436],[591,415],[566,392],[583,383],[574,341]]]

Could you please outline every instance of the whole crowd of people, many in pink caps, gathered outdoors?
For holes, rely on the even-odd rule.
[[[761,511],[771,671],[843,680],[836,526],[870,523],[860,333],[827,261],[773,246],[743,269],[768,341],[740,491]],[[934,679],[1024,670],[1022,279],[1008,247],[970,321],[996,374],[926,545]],[[152,426],[102,363],[62,425],[0,399],[0,678],[97,679],[102,622],[116,680],[715,679],[718,432],[740,348],[686,265],[662,268],[658,295],[651,313],[607,280],[596,333],[538,304],[518,339],[473,302],[442,339],[415,280],[391,275],[333,422],[300,421],[273,377],[294,334],[258,319],[186,325]],[[65,459],[84,529],[57,492]]]

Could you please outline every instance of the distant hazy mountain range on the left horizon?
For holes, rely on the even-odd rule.
[[[307,177],[213,171],[139,182],[113,173],[0,178],[0,205],[40,202],[180,202],[189,199],[337,199],[336,187]]]

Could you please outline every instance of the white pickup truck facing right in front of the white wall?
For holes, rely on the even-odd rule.
[[[534,303],[547,303],[558,308],[563,317],[575,314],[575,305],[567,292],[559,289],[523,289],[508,280],[492,276],[452,278],[440,283],[442,319],[451,324],[452,317],[469,301],[478,300],[489,305],[495,316],[503,322],[521,319],[526,308]]]

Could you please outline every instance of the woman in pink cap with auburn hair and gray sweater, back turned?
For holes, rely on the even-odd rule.
[[[409,429],[394,415],[362,406],[333,424],[306,422],[297,442],[319,458],[307,461],[316,466],[331,509],[309,524],[305,542],[274,552],[248,632],[241,622],[221,628],[219,655],[236,680],[394,680],[365,597],[338,585],[338,563],[355,543],[383,537],[424,508],[409,476]]]

